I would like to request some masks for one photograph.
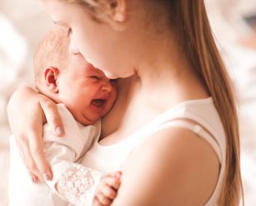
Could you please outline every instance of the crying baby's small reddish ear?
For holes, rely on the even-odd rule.
[[[59,92],[58,88],[58,76],[59,76],[59,69],[58,68],[45,68],[45,85],[46,87],[54,93]]]

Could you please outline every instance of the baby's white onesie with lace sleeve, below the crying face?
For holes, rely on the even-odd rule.
[[[48,124],[44,126],[45,156],[53,171],[53,179],[46,184],[61,199],[88,205],[102,174],[75,162],[92,146],[96,129],[94,125],[81,127],[64,105],[58,105],[58,109],[64,122],[64,137],[56,137]]]

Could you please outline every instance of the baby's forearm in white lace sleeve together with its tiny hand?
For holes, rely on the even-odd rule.
[[[91,205],[93,199],[93,204],[107,206],[116,198],[121,172],[101,177],[97,171],[73,164],[60,176],[55,188],[60,197],[73,205]]]

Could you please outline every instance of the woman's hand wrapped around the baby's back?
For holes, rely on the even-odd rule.
[[[22,87],[8,102],[7,115],[21,159],[32,180],[51,180],[52,172],[45,158],[42,132],[47,121],[58,136],[64,134],[55,103],[30,87]]]

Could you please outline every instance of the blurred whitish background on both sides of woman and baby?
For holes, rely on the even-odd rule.
[[[256,1],[206,0],[211,24],[239,98],[245,205],[256,205]],[[6,105],[21,85],[32,85],[32,55],[52,23],[38,0],[0,2],[0,206],[7,205]],[[24,117],[26,119],[26,117]],[[254,138],[255,137],[255,138]]]

